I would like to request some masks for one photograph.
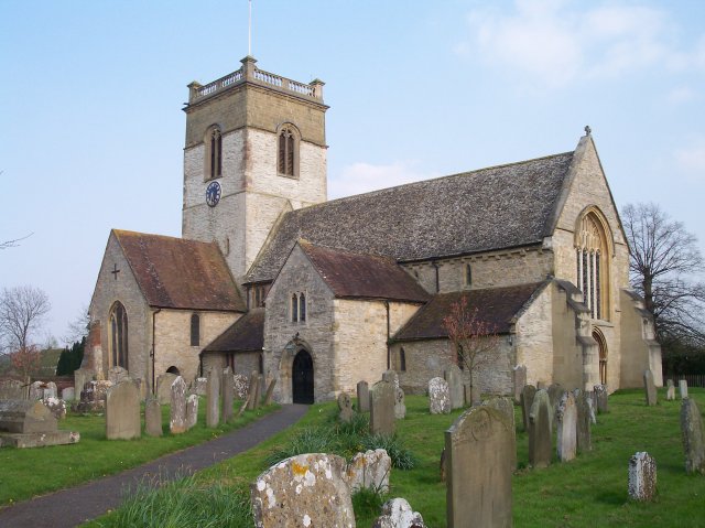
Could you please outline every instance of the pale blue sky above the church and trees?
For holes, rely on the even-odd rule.
[[[328,195],[573,150],[705,252],[705,2],[253,0],[258,67],[323,79]],[[40,335],[88,306],[111,228],[181,235],[186,85],[248,54],[248,1],[0,0],[0,288]]]

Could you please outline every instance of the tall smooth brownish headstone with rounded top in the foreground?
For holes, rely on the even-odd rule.
[[[445,432],[448,527],[511,526],[510,429],[503,412],[479,406]]]

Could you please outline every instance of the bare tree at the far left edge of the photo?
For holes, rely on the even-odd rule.
[[[4,288],[0,294],[0,337],[3,352],[28,349],[52,305],[44,291],[31,285]]]

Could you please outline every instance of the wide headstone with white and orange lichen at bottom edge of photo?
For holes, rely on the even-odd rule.
[[[345,459],[300,454],[273,465],[252,484],[258,528],[355,528]]]

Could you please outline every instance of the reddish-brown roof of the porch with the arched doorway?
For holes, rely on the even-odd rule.
[[[337,298],[425,302],[429,293],[389,257],[315,246],[299,246]]]

